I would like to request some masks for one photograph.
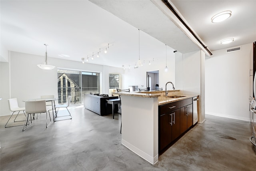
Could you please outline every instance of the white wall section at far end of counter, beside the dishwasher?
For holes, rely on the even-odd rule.
[[[199,95],[198,101],[198,122],[205,119],[204,109],[204,59],[202,51],[195,51],[186,54],[175,52],[175,80],[177,89],[183,90],[186,94]]]

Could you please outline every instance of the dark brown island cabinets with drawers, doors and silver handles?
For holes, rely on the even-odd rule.
[[[159,151],[162,151],[172,141],[184,133],[193,122],[192,98],[158,107]]]

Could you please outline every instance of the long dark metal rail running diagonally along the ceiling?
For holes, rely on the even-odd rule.
[[[166,6],[172,11],[172,13],[180,20],[180,22],[182,22],[182,24],[188,29],[188,31],[194,36],[194,38],[196,38],[196,40],[204,47],[204,49],[210,54],[212,55],[212,52],[210,52],[210,50],[207,48],[207,46],[205,46],[201,40],[196,36],[196,34],[191,30],[191,28],[184,22],[184,20],[182,20],[182,18],[180,17],[180,15],[178,14],[178,12],[172,7],[172,5],[168,2],[168,0],[162,0],[164,2],[164,4],[166,4]]]

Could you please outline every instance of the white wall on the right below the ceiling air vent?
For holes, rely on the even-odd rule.
[[[250,120],[250,58],[252,44],[242,50],[226,53],[226,49],[212,52],[205,62],[206,114]]]

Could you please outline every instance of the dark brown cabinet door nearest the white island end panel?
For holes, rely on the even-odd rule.
[[[160,127],[159,127],[159,150],[161,151],[172,141],[172,127],[171,127],[171,114],[166,113],[164,115],[160,115]]]

